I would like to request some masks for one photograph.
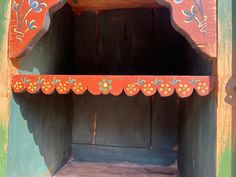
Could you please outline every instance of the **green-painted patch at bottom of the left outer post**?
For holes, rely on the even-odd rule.
[[[0,124],[0,176],[6,176],[6,143],[7,143],[7,128]]]

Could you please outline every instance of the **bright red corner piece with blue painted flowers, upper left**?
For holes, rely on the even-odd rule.
[[[12,0],[9,32],[10,58],[28,52],[50,25],[50,13],[63,6],[60,0]]]

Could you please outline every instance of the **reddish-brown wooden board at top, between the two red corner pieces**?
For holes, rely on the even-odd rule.
[[[155,0],[67,0],[74,12],[161,7]]]

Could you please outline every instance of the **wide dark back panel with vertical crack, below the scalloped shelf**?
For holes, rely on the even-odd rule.
[[[150,98],[86,94],[75,96],[73,104],[73,143],[149,147]]]

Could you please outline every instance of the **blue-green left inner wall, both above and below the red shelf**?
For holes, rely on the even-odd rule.
[[[21,60],[20,73],[59,74],[55,73],[57,68],[70,58],[66,56],[70,52],[64,48],[65,41],[70,38],[62,36],[70,33],[64,31],[67,29],[61,28],[58,22],[70,23],[66,19],[69,13],[68,8],[65,8],[53,16],[49,32]],[[13,95],[10,106],[8,177],[51,177],[68,160],[72,137],[70,102],[70,95]]]

